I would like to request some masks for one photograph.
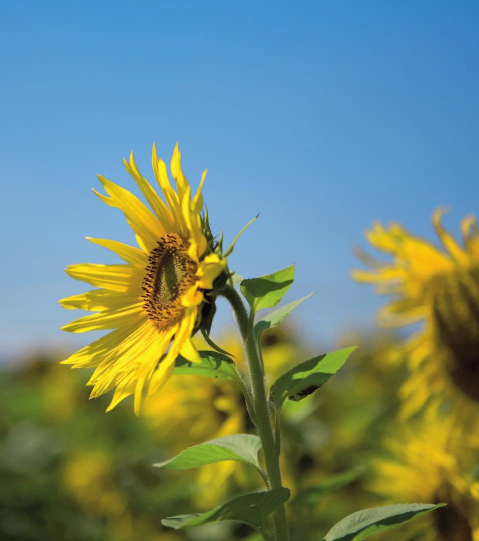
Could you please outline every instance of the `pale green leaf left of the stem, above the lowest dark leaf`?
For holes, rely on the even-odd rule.
[[[205,464],[222,462],[223,460],[237,460],[253,466],[260,467],[258,451],[261,448],[260,438],[253,434],[234,434],[224,436],[199,445],[186,448],[180,454],[153,466],[165,470],[189,470]]]

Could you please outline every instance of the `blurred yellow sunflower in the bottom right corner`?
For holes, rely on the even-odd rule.
[[[391,502],[447,504],[398,530],[398,539],[479,541],[478,428],[476,417],[464,425],[436,414],[386,441],[391,456],[373,462],[372,491]]]

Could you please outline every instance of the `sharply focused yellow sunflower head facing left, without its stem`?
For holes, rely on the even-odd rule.
[[[192,195],[178,144],[171,159],[176,191],[153,145],[153,173],[164,200],[139,173],[133,153],[124,164],[151,210],[128,190],[98,175],[107,195],[94,193],[125,214],[139,247],[87,237],[125,263],[80,263],[66,268],[69,276],[96,289],[62,299],[60,304],[95,313],[62,329],[74,333],[113,330],[62,362],[96,368],[88,381],[93,386],[90,398],[116,387],[107,411],[134,394],[138,413],[145,385],[148,394],[156,392],[170,377],[178,354],[192,362],[199,359],[191,337],[202,322],[204,308],[213,302],[208,290],[225,268],[225,260],[218,245],[213,246],[208,220],[201,214],[206,171]]]

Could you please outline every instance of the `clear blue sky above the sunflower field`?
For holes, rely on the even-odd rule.
[[[133,188],[133,149],[176,141],[246,277],[296,263],[286,300],[310,339],[372,328],[381,304],[355,284],[373,220],[433,238],[479,213],[477,2],[2,2],[0,353],[92,339],[59,327],[63,273],[114,262],[83,236],[132,242],[96,173]],[[228,310],[218,321],[229,322]]]

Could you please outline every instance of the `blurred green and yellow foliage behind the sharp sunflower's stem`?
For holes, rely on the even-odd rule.
[[[396,497],[370,490],[377,476],[371,464],[388,452],[384,437],[404,425],[397,419],[396,390],[410,375],[403,364],[389,361],[395,342],[393,335],[345,337],[339,346],[361,347],[340,372],[307,400],[284,405],[282,469],[292,490],[296,541],[321,539],[347,514]],[[226,336],[221,344],[243,362],[234,338]],[[308,358],[290,329],[266,331],[263,346],[273,379]],[[140,417],[128,400],[105,413],[108,397],[88,400],[88,373],[59,365],[61,358],[37,355],[0,372],[2,541],[255,539],[248,526],[235,523],[185,532],[161,525],[162,518],[204,511],[261,488],[254,469],[231,462],[185,472],[152,466],[200,441],[252,432],[231,382],[178,376]],[[418,519],[418,526],[395,539],[426,539],[420,532],[433,531],[428,520]]]

